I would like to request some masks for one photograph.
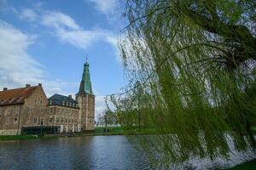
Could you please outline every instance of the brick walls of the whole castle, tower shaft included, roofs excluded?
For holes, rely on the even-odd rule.
[[[60,126],[61,132],[95,129],[95,96],[79,96],[79,108],[48,105],[44,89],[38,86],[23,105],[0,106],[0,135],[20,134],[22,127]]]

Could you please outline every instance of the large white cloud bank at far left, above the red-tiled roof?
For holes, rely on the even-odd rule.
[[[27,48],[34,43],[34,36],[0,20],[0,88],[20,88],[26,83],[42,82],[46,94],[61,93],[62,85],[68,83],[51,81],[44,77],[44,66],[40,65]]]

